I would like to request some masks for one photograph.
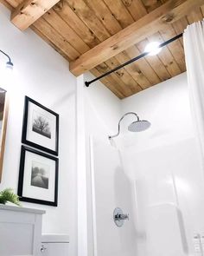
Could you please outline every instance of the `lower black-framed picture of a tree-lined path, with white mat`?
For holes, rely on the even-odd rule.
[[[22,146],[18,195],[20,200],[57,207],[58,159]]]

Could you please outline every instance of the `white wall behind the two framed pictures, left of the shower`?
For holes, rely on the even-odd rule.
[[[77,181],[75,152],[75,86],[76,79],[68,64],[54,49],[32,30],[21,32],[10,23],[10,12],[0,5],[0,49],[10,54],[15,64],[10,86],[10,111],[6,136],[3,181],[0,190],[12,187],[16,191],[22,135],[24,96],[28,95],[60,115],[59,204],[47,207],[23,203],[26,207],[46,210],[43,233],[70,235],[70,255],[77,255]],[[3,63],[0,56],[0,87]]]

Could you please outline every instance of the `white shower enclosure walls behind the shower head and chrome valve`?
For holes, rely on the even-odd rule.
[[[94,170],[92,177],[97,180],[97,189],[94,190],[97,203],[96,207],[93,205],[96,213],[94,231],[97,248],[93,254],[93,248],[89,246],[89,255],[111,256],[117,250],[119,256],[131,256],[135,255],[134,253],[138,256],[157,256],[159,253],[168,256],[175,253],[192,255],[192,237],[194,233],[204,231],[204,201],[201,196],[204,194],[204,179],[190,114],[186,74],[178,75],[122,102],[116,101],[113,95],[107,99],[100,87],[100,83],[95,83],[86,89],[86,101],[92,106],[86,109],[86,139],[93,135],[92,163],[97,166],[97,171]],[[109,104],[112,104],[112,112],[102,108],[103,105],[105,108],[110,107]],[[123,141],[123,148],[118,152],[110,146],[106,138],[116,132],[119,118],[128,111],[134,111],[141,118],[151,121],[152,127],[139,134],[126,133],[127,124],[132,121],[131,116],[127,117],[122,124],[124,134],[115,139],[119,147],[119,142]],[[94,116],[105,118],[96,121]],[[90,157],[88,152],[87,157]],[[90,181],[88,164],[87,167],[87,177]],[[125,179],[116,180],[117,167],[123,170],[120,174],[123,174]],[[137,197],[134,197],[134,193],[131,194],[132,201],[137,198],[135,204],[129,200],[130,189],[121,189],[121,185],[116,185],[126,181],[132,184],[131,190],[132,187],[133,190],[134,187],[137,188]],[[103,191],[102,196],[100,189]],[[88,192],[89,209],[91,196]],[[119,198],[122,200],[119,201]],[[131,213],[131,220],[124,224],[124,232],[114,226],[112,221],[113,208],[120,206],[124,207],[124,212]],[[147,208],[149,211],[145,210]],[[101,209],[104,209],[104,215]],[[155,218],[156,214],[158,216],[158,213],[162,212],[163,225],[159,226],[160,222],[151,221],[151,217]],[[137,216],[135,214],[133,217],[134,220],[132,213],[137,213]],[[90,219],[88,234],[89,241],[92,241]],[[169,226],[164,226],[167,219]],[[153,226],[154,223],[157,228]],[[130,229],[125,229],[128,226]],[[171,229],[171,226],[174,228]],[[172,232],[165,233],[166,231]],[[112,240],[109,234],[112,234]],[[145,237],[148,237],[148,243]],[[159,239],[160,245],[154,248]],[[134,241],[135,251],[128,250]]]

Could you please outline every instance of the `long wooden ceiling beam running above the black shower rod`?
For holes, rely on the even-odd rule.
[[[169,23],[174,23],[191,10],[204,4],[204,0],[171,0],[132,23],[124,30],[88,50],[78,59],[70,62],[70,71],[73,75],[81,75],[116,56],[124,49],[138,43],[148,36],[163,29]]]

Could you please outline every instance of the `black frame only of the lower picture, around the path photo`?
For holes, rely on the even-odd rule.
[[[24,174],[25,174],[25,171],[26,171],[25,170],[26,152],[31,152],[33,154],[38,154],[42,157],[48,158],[52,161],[55,161],[54,201],[42,200],[43,199],[43,194],[41,195],[41,197],[42,197],[41,200],[23,196],[23,180],[24,180]],[[42,152],[40,152],[38,150],[35,150],[33,148],[22,146],[21,160],[20,160],[20,170],[19,170],[19,178],[18,178],[18,189],[17,189],[17,194],[19,195],[19,199],[21,201],[26,201],[26,202],[30,202],[30,203],[57,207],[57,202],[58,202],[58,168],[59,168],[58,158],[56,158],[56,157],[54,157],[53,155],[50,155],[50,154],[42,153]]]

